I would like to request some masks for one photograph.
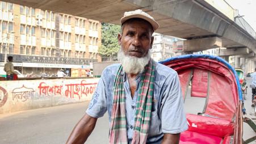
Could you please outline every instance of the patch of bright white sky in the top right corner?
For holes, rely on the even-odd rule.
[[[225,0],[256,32],[256,0]]]

